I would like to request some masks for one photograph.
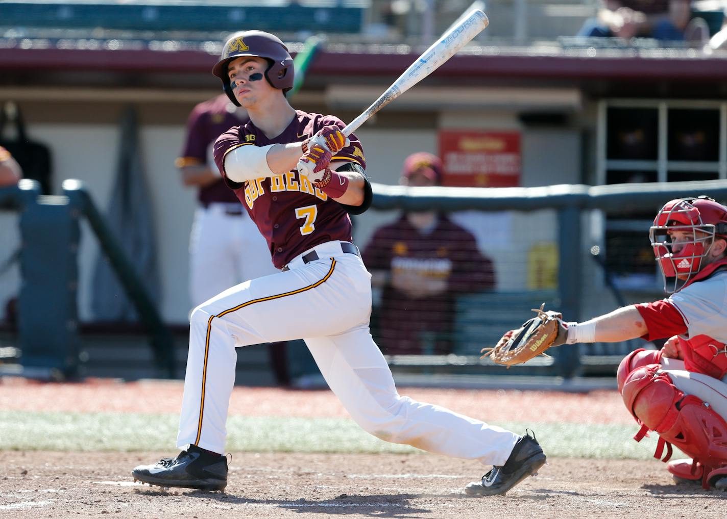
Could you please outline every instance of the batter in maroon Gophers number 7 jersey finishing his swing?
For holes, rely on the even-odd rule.
[[[251,30],[231,38],[214,66],[230,100],[250,117],[220,136],[214,159],[281,271],[195,308],[177,436],[185,450],[132,475],[159,486],[225,489],[235,348],[304,338],[329,387],[364,430],[494,465],[467,492],[503,494],[537,472],[545,454],[529,434],[399,396],[369,333],[370,275],[351,242],[349,214],[371,202],[361,142],[345,138],[341,120],[289,105],[292,63],[276,36]]]

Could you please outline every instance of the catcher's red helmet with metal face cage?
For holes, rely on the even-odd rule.
[[[686,231],[691,237],[680,241],[680,248],[674,250],[670,230]],[[649,230],[651,247],[662,270],[664,290],[676,292],[702,269],[705,265],[702,260],[715,237],[727,240],[727,208],[724,205],[705,196],[678,198],[664,204]],[[667,278],[674,279],[672,290],[667,287]]]

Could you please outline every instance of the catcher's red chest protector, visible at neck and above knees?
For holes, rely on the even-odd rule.
[[[710,277],[715,271],[727,267],[727,258],[710,263],[699,271],[692,279],[682,287],[682,290],[693,282]],[[725,317],[727,324],[727,316]],[[697,335],[696,337],[684,340],[679,338],[679,346],[684,354],[684,367],[687,371],[703,373],[717,379],[727,375],[727,346],[709,335]]]

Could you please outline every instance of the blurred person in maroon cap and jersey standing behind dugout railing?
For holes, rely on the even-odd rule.
[[[441,184],[442,163],[426,152],[403,165],[401,184]],[[435,211],[403,213],[364,251],[371,284],[382,287],[377,344],[385,354],[448,354],[457,295],[494,287],[492,262],[475,237]]]

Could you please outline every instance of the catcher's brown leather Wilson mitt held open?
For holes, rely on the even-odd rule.
[[[482,348],[481,359],[489,356],[497,364],[505,364],[508,368],[515,364],[523,364],[533,357],[545,355],[547,348],[561,346],[568,338],[568,325],[563,322],[563,314],[555,311],[543,311],[532,308],[537,316],[524,322],[518,330],[510,330],[502,335],[494,348]]]

